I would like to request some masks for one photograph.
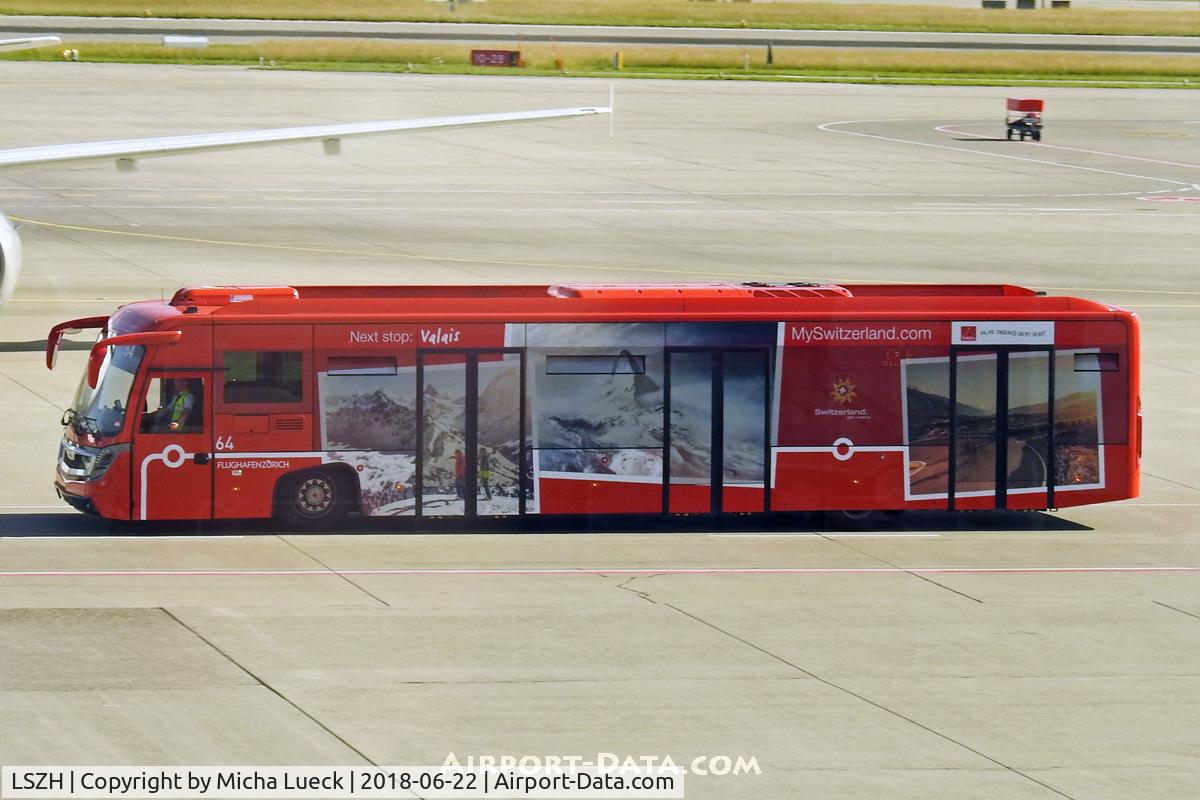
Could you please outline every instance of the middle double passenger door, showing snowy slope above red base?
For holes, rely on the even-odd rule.
[[[770,509],[769,348],[667,348],[662,509]]]

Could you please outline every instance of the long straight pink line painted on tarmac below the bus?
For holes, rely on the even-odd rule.
[[[1018,566],[1018,567],[514,567],[510,570],[11,570],[0,578],[158,578],[158,577],[341,577],[492,575],[1036,575],[1087,572],[1200,572],[1200,566]]]

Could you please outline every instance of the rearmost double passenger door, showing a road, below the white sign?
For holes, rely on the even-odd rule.
[[[1054,348],[950,348],[949,405],[948,509],[1054,507]]]

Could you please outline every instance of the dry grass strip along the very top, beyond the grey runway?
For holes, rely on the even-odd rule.
[[[1200,12],[701,0],[0,0],[0,13],[1195,36]]]

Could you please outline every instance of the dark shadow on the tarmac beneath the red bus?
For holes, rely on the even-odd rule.
[[[270,519],[205,522],[113,522],[73,513],[0,515],[0,537],[162,537],[162,536],[276,536],[320,534],[914,534],[914,533],[1040,533],[1090,531],[1088,525],[1051,513],[1030,511],[876,512],[852,519],[840,512],[776,516],[713,517],[554,516],[479,519],[350,518],[329,531],[282,527]]]

